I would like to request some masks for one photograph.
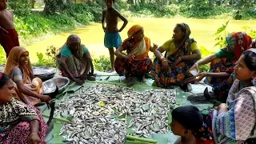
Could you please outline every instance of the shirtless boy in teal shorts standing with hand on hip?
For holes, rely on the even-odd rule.
[[[114,71],[114,47],[118,49],[122,44],[122,39],[119,32],[121,32],[127,25],[127,19],[118,12],[118,10],[113,8],[114,0],[105,0],[106,10],[102,11],[102,29],[105,32],[104,45],[110,51],[110,62],[111,70]],[[123,25],[120,30],[118,30],[118,18],[121,18]],[[105,26],[106,21],[106,26]]]

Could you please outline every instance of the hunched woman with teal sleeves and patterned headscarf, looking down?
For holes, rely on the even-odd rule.
[[[58,69],[62,76],[70,78],[79,85],[86,79],[95,81],[95,77],[89,74],[92,64],[90,52],[81,44],[81,39],[76,34],[71,34],[57,55]]]

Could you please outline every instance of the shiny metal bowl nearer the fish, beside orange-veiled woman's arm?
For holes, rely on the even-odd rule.
[[[69,83],[70,79],[66,77],[51,78],[46,82],[42,82],[43,93],[51,94],[56,90],[56,86],[58,86],[58,94],[60,94],[66,89]]]

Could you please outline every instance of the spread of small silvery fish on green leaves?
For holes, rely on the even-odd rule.
[[[82,88],[55,110],[56,115],[73,118],[62,126],[59,135],[67,143],[119,144],[125,143],[127,128],[138,137],[167,133],[168,112],[176,102],[175,95],[174,90],[140,93],[106,84]],[[130,122],[126,122],[128,115]]]

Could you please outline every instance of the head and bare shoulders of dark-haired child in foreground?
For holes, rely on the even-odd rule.
[[[180,106],[171,113],[171,131],[181,136],[174,144],[195,144],[194,132],[202,126],[202,113],[194,106]]]

